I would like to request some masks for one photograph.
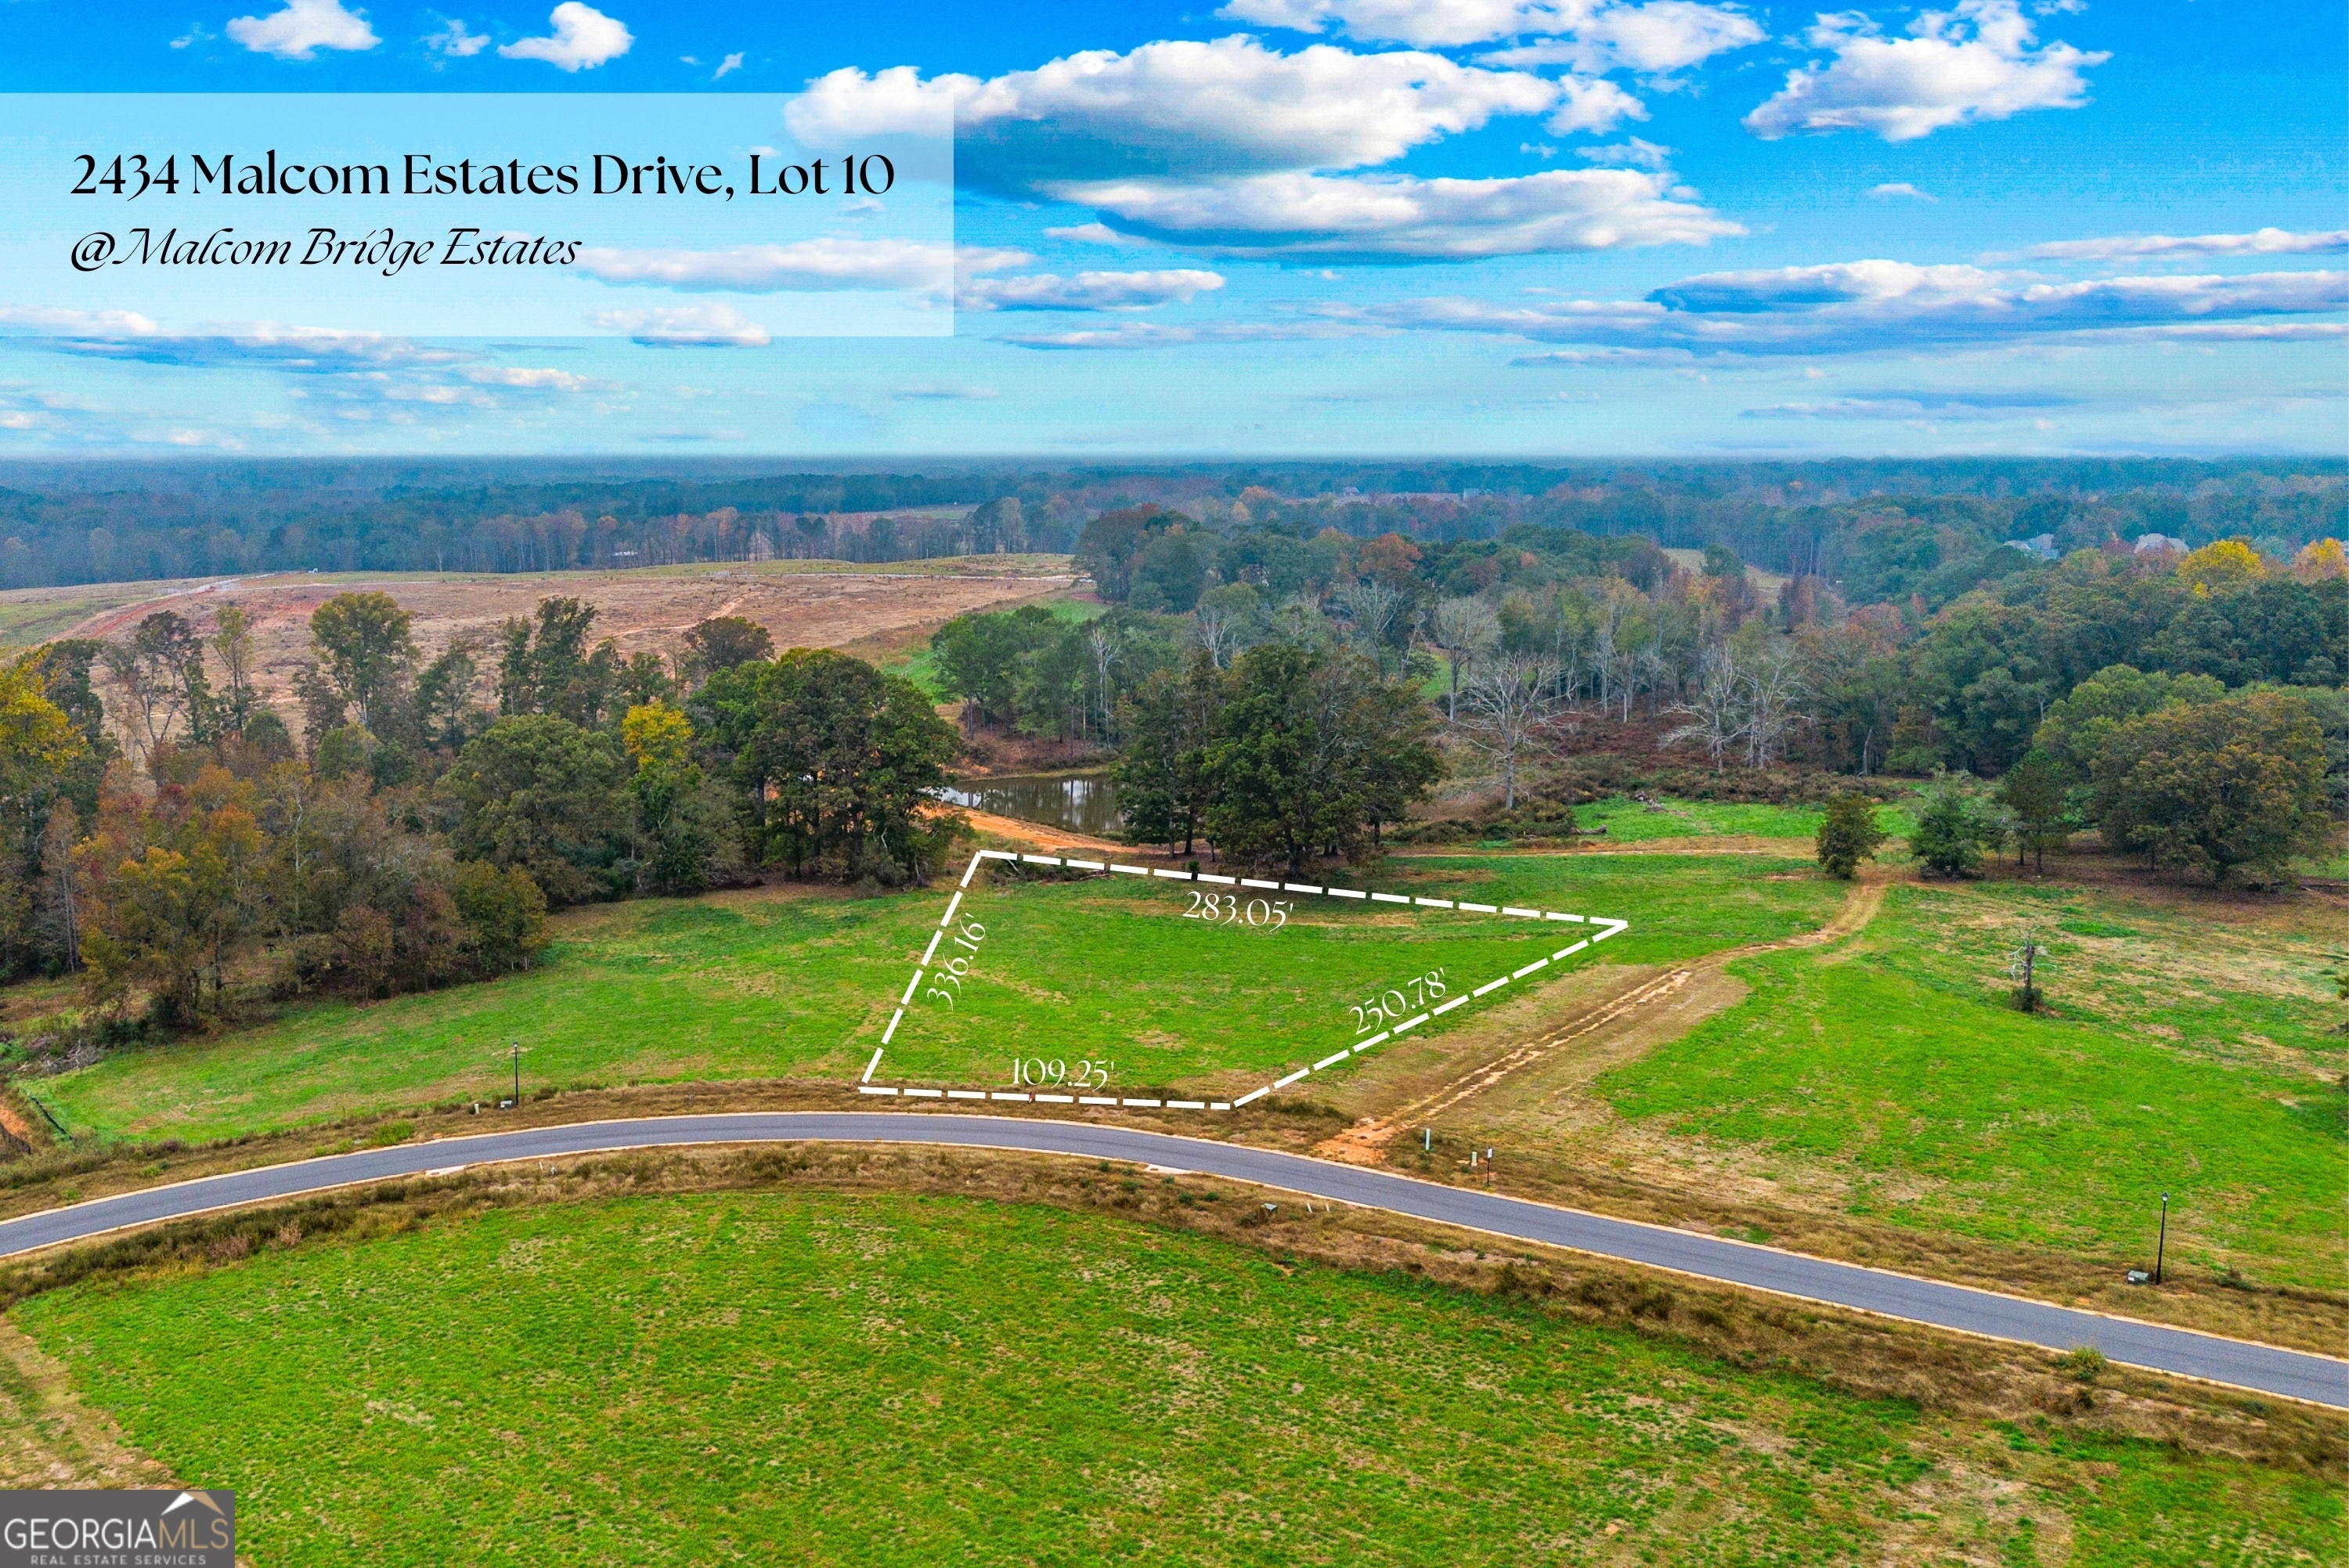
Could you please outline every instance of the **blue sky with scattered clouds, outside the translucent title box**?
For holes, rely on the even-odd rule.
[[[810,146],[951,113],[954,338],[768,331],[803,258],[716,239],[601,277],[731,326],[573,340],[141,331],[0,277],[0,458],[2349,446],[2337,5],[94,16],[12,0],[5,85],[803,94]]]

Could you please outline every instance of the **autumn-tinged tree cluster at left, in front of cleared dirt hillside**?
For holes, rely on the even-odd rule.
[[[761,869],[923,880],[961,831],[935,800],[958,739],[928,697],[749,620],[705,620],[672,662],[554,596],[425,660],[397,601],[338,594],[310,650],[301,744],[235,606],[0,667],[7,974],[80,974],[103,1016],[146,998],[190,1026],[242,991],[503,974],[566,904]]]

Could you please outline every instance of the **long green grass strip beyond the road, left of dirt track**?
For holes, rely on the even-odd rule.
[[[958,911],[984,927],[965,1000],[916,998],[881,1077],[1008,1087],[1012,1059],[1109,1061],[1113,1089],[1245,1089],[1355,1040],[1348,1005],[1445,972],[1482,984],[1588,927],[1297,899],[1280,930],[1184,918],[1189,885],[1012,885]],[[1755,857],[1414,857],[1379,885],[1609,913],[1633,927],[1567,960],[1661,962],[1820,925],[1842,887]],[[864,1070],[951,887],[855,899],[756,890],[571,915],[547,962],[484,986],[315,1002],[263,1028],[120,1052],[40,1089],[78,1134],[221,1138],[362,1110],[524,1089]],[[1243,908],[1245,915],[1245,908]],[[968,934],[968,932],[963,932]],[[937,960],[968,953],[942,944]],[[1541,984],[1550,969],[1525,984]],[[1571,969],[1567,969],[1571,972]],[[1428,1033],[1475,1016],[1461,1007]],[[1374,1033],[1374,1030],[1365,1030]]]

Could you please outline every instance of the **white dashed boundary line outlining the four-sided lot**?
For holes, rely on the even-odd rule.
[[[1489,979],[1475,991],[1454,995],[1452,1000],[1431,1007],[1416,1019],[1405,1019],[1391,1030],[1348,1045],[1341,1052],[1332,1052],[1330,1056],[1322,1056],[1313,1066],[1297,1068],[1287,1077],[1276,1077],[1273,1082],[1259,1084],[1257,1089],[1250,1089],[1247,1094],[1240,1094],[1238,1099],[1229,1101],[1167,1101],[1167,1099],[1137,1099],[1116,1094],[1031,1094],[1019,1089],[909,1089],[900,1084],[876,1084],[871,1077],[881,1068],[881,1054],[888,1049],[890,1038],[897,1033],[897,1023],[904,1021],[904,1009],[914,1005],[914,991],[916,986],[921,986],[921,976],[928,974],[930,960],[937,955],[937,939],[947,932],[947,927],[954,922],[954,913],[963,906],[963,892],[970,887],[970,878],[977,876],[980,866],[991,859],[1019,861],[1027,866],[1062,866],[1066,871],[1099,871],[1104,876],[1165,878],[1170,883],[1214,883],[1219,887],[1240,885],[1240,887],[1261,887],[1264,892],[1301,892],[1322,899],[1369,899],[1377,904],[1409,904],[1416,908],[1447,908],[1468,915],[1503,915],[1513,920],[1567,920],[1571,925],[1597,925],[1602,930],[1593,932],[1590,937],[1583,937],[1571,946],[1557,948],[1548,958],[1536,958],[1534,962],[1522,965],[1520,969]],[[1214,876],[1212,871],[1165,871],[1158,866],[1120,866],[1116,861],[1102,864],[1097,859],[1066,859],[1059,854],[1015,854],[1010,850],[977,850],[972,852],[970,864],[963,866],[963,880],[956,883],[954,897],[947,901],[947,913],[937,918],[937,930],[930,932],[930,946],[921,951],[921,960],[916,960],[914,965],[914,976],[904,984],[904,995],[897,998],[897,1007],[888,1016],[888,1028],[881,1030],[881,1045],[874,1047],[874,1059],[864,1063],[864,1077],[857,1080],[857,1094],[881,1094],[888,1099],[928,1099],[928,1101],[949,1099],[949,1101],[1019,1101],[1031,1106],[1104,1106],[1104,1108],[1113,1106],[1118,1110],[1238,1110],[1240,1106],[1261,1101],[1273,1089],[1287,1089],[1290,1084],[1311,1077],[1313,1073],[1327,1073],[1346,1061],[1353,1061],[1374,1045],[1386,1045],[1395,1035],[1405,1035],[1426,1023],[1428,1019],[1447,1014],[1454,1007],[1466,1007],[1468,1002],[1492,995],[1494,991],[1508,986],[1510,981],[1520,981],[1539,969],[1548,969],[1553,962],[1574,958],[1583,948],[1607,941],[1609,937],[1616,937],[1626,930],[1630,930],[1630,920],[1616,920],[1611,915],[1569,915],[1555,908],[1517,908],[1515,904],[1503,904],[1496,908],[1492,904],[1466,904],[1454,899],[1414,899],[1400,892],[1365,894],[1355,887],[1318,887],[1313,883],[1266,883],[1252,876],[1243,878]]]

